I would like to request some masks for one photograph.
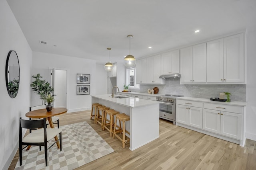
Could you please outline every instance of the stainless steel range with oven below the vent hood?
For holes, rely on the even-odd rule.
[[[176,123],[176,98],[181,95],[165,94],[163,96],[156,96],[156,101],[160,101],[159,117],[170,120],[175,125]]]

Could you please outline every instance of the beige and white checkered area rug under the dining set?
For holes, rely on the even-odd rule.
[[[18,160],[15,170],[73,170],[102,156],[114,152],[96,131],[86,122],[60,127],[62,129],[62,151],[57,145],[48,150],[48,166],[45,166],[44,147],[32,146],[22,150],[22,166]],[[48,142],[48,147],[52,141]]]

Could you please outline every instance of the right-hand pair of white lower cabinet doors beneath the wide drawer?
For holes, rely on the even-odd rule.
[[[242,115],[226,111],[204,109],[203,129],[213,133],[241,139]]]

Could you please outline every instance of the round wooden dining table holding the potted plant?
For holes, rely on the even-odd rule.
[[[38,109],[38,110],[33,110],[28,113],[26,113],[26,117],[30,118],[44,118],[47,117],[50,127],[54,128],[54,124],[52,122],[52,116],[60,115],[63,113],[66,113],[68,109],[66,108],[61,108],[61,107],[54,107],[52,108],[52,111],[47,111],[46,109]],[[58,137],[54,137],[55,141],[58,141]],[[56,143],[58,148],[60,148],[60,143],[59,141]]]

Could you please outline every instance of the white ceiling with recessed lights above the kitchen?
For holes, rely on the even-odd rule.
[[[97,60],[150,56],[256,28],[256,0],[7,0],[32,49]],[[200,29],[199,33],[194,33]],[[39,41],[46,41],[47,45]],[[54,47],[56,45],[56,47]],[[152,49],[148,49],[151,46]]]

